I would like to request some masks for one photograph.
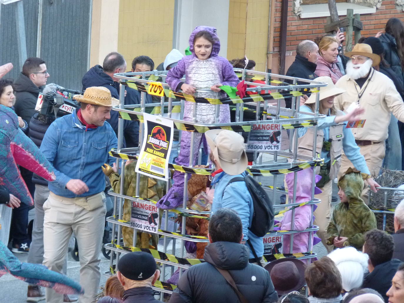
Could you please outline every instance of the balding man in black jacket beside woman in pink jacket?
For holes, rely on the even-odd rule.
[[[295,61],[288,68],[286,76],[314,80],[317,78],[314,73],[317,67],[317,57],[317,44],[310,40],[303,40],[297,45]],[[286,82],[292,84],[293,80],[286,80]],[[304,84],[304,82],[297,81],[297,84]],[[285,103],[286,107],[291,108],[292,98],[286,98]]]

